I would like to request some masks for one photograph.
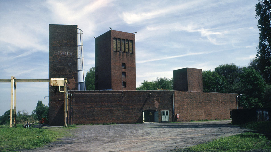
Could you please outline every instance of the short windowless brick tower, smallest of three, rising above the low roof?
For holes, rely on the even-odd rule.
[[[176,91],[203,92],[202,70],[195,68],[173,70],[173,88]]]

